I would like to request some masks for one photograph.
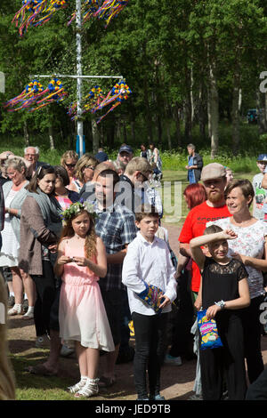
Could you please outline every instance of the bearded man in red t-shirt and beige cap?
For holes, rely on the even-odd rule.
[[[206,165],[202,170],[200,180],[203,181],[206,189],[207,200],[190,210],[178,238],[180,252],[187,257],[191,257],[190,240],[203,235],[204,229],[206,229],[206,222],[217,221],[218,219],[231,216],[224,200],[226,171],[223,165],[218,163]],[[195,299],[198,295],[199,285],[200,271],[197,263],[192,261],[191,291]]]

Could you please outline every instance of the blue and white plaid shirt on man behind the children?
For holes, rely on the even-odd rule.
[[[93,202],[98,218],[95,220],[95,232],[101,237],[108,254],[115,254],[125,249],[136,237],[135,217],[125,206],[114,205],[112,211],[101,212],[97,202]],[[102,290],[124,289],[121,283],[122,263],[108,264],[106,277],[101,277],[99,285]]]

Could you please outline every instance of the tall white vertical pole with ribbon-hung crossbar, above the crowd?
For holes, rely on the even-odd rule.
[[[77,23],[77,137],[79,139],[80,157],[84,153],[84,124],[82,120],[82,13],[81,0],[76,0],[76,23]]]

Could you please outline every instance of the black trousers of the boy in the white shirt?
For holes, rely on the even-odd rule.
[[[159,394],[160,365],[165,352],[168,314],[142,315],[133,312],[135,335],[134,383],[139,399],[148,398],[146,370],[149,374],[150,397]]]

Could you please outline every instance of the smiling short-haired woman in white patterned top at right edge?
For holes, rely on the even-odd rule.
[[[233,180],[225,189],[229,218],[209,222],[222,229],[232,229],[238,237],[229,241],[230,255],[242,261],[248,273],[250,306],[242,309],[245,357],[250,383],[263,372],[261,352],[260,306],[263,302],[263,271],[267,271],[267,225],[255,219],[250,211],[254,189],[248,180]]]

